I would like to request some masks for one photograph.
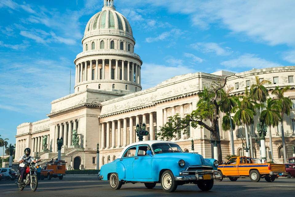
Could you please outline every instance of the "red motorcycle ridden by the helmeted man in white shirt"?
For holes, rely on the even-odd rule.
[[[40,157],[36,158],[37,160],[40,159]],[[40,162],[40,161],[39,161]],[[25,172],[25,177],[24,177],[24,184],[23,185],[18,185],[18,190],[22,191],[26,186],[30,185],[31,191],[36,191],[38,187],[38,179],[37,179],[37,170],[36,168],[38,167],[37,163],[26,163],[26,172]],[[21,175],[18,171],[18,183],[21,182]]]

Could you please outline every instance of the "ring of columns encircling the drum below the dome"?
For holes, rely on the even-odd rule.
[[[102,62],[101,65],[98,64],[99,61]],[[119,59],[115,59],[114,64],[112,64],[112,59],[107,59],[107,61],[109,62],[108,68],[115,69],[115,76],[113,79],[125,80],[125,81],[135,82],[138,84],[141,83],[140,82],[141,81],[140,65],[134,62],[119,60]],[[98,80],[98,79],[112,79],[112,69],[108,69],[109,70],[108,73],[105,73],[105,67],[106,67],[105,64],[106,64],[106,59],[96,59],[96,60],[90,60],[90,61],[78,63],[76,65],[75,84],[84,82],[84,81],[91,81],[91,80]],[[95,67],[93,65],[95,65]],[[89,73],[88,69],[90,69],[89,76],[88,76],[88,73]],[[125,72],[126,72],[125,69],[127,69],[127,76],[125,75]],[[92,72],[92,70],[94,70],[94,73]],[[120,76],[120,73],[122,73],[121,76]],[[106,74],[108,75],[108,77],[105,76]]]

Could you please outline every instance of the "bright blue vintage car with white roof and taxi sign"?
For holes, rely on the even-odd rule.
[[[101,167],[99,179],[109,180],[113,189],[129,182],[149,189],[161,183],[165,192],[173,192],[178,185],[194,183],[208,191],[219,178],[217,167],[217,160],[185,153],[174,142],[150,140],[126,146],[118,159]]]

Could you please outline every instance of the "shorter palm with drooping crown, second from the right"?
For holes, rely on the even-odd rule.
[[[273,143],[271,136],[271,126],[277,126],[281,120],[280,103],[276,99],[268,98],[266,100],[264,110],[260,114],[260,120],[269,127],[269,144],[271,151],[271,158],[273,160]]]

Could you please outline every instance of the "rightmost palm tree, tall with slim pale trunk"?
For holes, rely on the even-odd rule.
[[[284,93],[290,89],[290,86],[286,86],[280,89],[276,86],[276,89],[271,92],[271,94],[275,94],[277,96],[277,101],[279,103],[280,112],[281,112],[281,132],[282,132],[282,142],[283,142],[283,156],[284,156],[284,163],[286,163],[287,152],[286,152],[286,145],[285,145],[285,133],[283,127],[284,115],[290,115],[290,109],[292,106],[292,101],[290,98],[284,97]]]

